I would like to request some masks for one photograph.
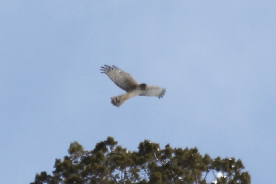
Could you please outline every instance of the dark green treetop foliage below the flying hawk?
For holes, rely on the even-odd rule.
[[[31,184],[206,184],[209,173],[221,172],[217,184],[249,184],[241,160],[211,159],[197,148],[160,149],[157,143],[141,142],[138,151],[130,152],[117,145],[112,137],[86,151],[71,143],[69,156],[56,159],[52,175],[36,174]]]

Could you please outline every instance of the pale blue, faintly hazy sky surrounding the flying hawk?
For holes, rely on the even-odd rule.
[[[71,142],[197,147],[276,172],[275,1],[0,1],[0,183],[51,173]],[[136,97],[99,69],[167,89]]]

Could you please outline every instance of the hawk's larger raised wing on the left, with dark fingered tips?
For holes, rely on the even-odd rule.
[[[100,70],[101,73],[105,73],[119,88],[125,91],[134,89],[139,85],[130,74],[120,70],[114,65],[104,65]]]

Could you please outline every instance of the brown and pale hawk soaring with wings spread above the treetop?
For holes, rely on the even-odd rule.
[[[130,74],[120,70],[116,66],[104,65],[101,67],[101,73],[106,74],[119,88],[125,90],[126,93],[114,96],[111,99],[111,103],[119,107],[127,99],[135,96],[157,96],[162,98],[166,92],[165,88],[158,86],[147,86],[147,84],[138,84]]]

